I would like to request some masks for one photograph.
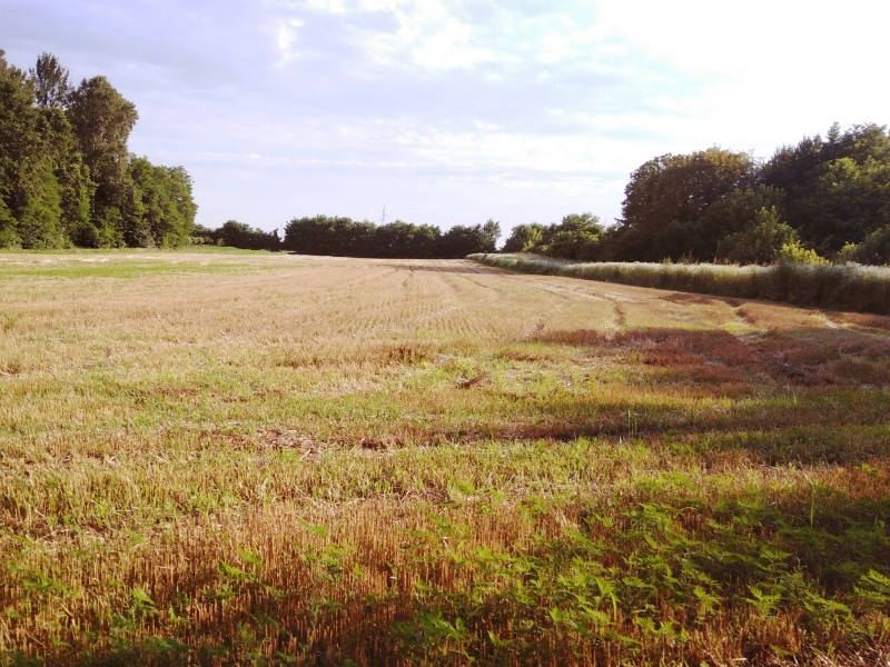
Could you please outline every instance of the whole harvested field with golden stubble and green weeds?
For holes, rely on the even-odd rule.
[[[0,664],[890,659],[890,318],[0,255]]]

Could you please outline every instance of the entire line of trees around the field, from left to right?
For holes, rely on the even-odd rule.
[[[195,225],[182,167],[131,155],[136,107],[105,77],[75,87],[42,53],[20,70],[0,50],[0,248],[225,245],[308,255],[453,258],[493,252],[501,228],[294,218],[285,236],[229,220]],[[781,260],[890,263],[890,135],[835,123],[768,160],[721,148],[668,153],[631,173],[622,216],[513,228],[503,248],[583,261]]]

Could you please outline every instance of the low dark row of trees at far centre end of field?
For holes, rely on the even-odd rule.
[[[283,246],[303,255],[380,258],[458,258],[473,252],[494,252],[501,226],[455,225],[443,232],[432,225],[396,220],[388,225],[350,218],[315,216],[294,218],[285,227]]]

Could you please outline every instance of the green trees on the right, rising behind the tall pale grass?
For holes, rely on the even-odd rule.
[[[622,217],[520,225],[505,251],[587,261],[890,263],[890,135],[877,125],[805,137],[758,161],[720,148],[646,161]]]

